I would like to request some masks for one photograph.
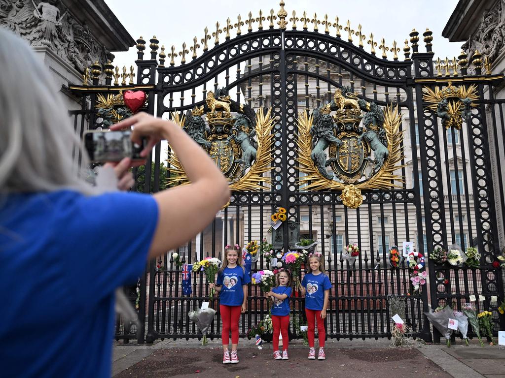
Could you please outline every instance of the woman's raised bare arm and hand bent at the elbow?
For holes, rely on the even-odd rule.
[[[149,258],[155,258],[203,230],[229,201],[230,191],[214,161],[174,122],[138,113],[110,129],[130,129],[131,125],[135,125],[131,136],[134,142],[148,138],[142,156],[147,156],[160,140],[169,140],[191,181],[154,195],[159,217]]]

